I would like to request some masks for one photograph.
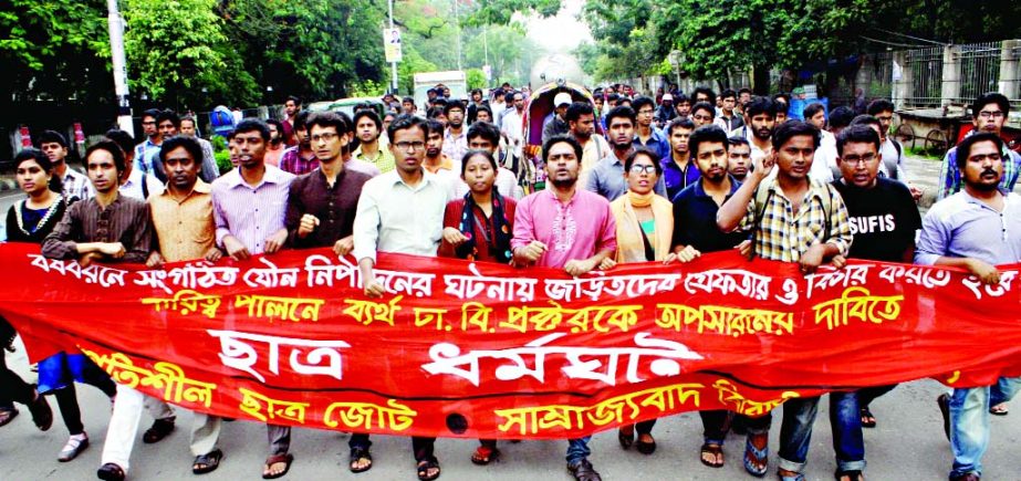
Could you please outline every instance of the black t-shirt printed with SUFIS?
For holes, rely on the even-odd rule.
[[[921,216],[907,186],[896,180],[877,178],[872,189],[833,181],[841,192],[851,218],[851,258],[872,261],[903,262],[904,251],[915,243],[915,232],[921,229]]]

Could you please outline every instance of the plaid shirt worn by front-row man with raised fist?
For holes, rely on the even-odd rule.
[[[791,201],[783,195],[775,177],[767,179],[759,188],[770,190],[765,208],[757,206],[753,198],[740,227],[743,231],[756,229],[756,215],[762,212],[754,236],[756,254],[773,261],[798,262],[813,244],[829,242],[836,245],[841,254],[847,255],[852,241],[851,222],[844,199],[836,189],[827,184],[812,182],[794,215]],[[830,197],[830,212],[826,212],[822,196]],[[829,238],[826,216],[830,217]]]

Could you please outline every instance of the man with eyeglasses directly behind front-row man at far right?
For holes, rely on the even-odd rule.
[[[971,105],[971,123],[975,129],[968,135],[986,132],[1000,136],[1003,124],[1007,123],[1008,114],[1010,114],[1010,101],[1007,100],[1007,96],[999,92],[980,95],[975,101],[975,104]],[[1003,175],[1000,178],[1000,187],[1011,191],[1018,181],[1018,172],[1021,171],[1021,155],[1008,148],[1006,144],[1003,145],[1002,155]],[[939,178],[936,200],[957,194],[961,189],[960,169],[957,168],[957,147],[947,150],[942,166],[939,168]]]

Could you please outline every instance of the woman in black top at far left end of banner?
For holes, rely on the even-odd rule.
[[[7,239],[11,242],[42,243],[64,217],[67,200],[60,195],[60,179],[52,176],[53,164],[45,154],[37,149],[22,150],[14,158],[14,165],[18,186],[28,197],[11,206],[8,211]],[[39,363],[39,393],[52,393],[56,397],[64,425],[71,435],[58,457],[60,461],[71,461],[88,447],[88,437],[82,425],[82,412],[74,390],[75,380],[100,388],[111,400],[117,393],[116,385],[110,376],[81,353],[60,352]],[[3,387],[6,389],[8,386]],[[42,411],[41,407],[38,409]],[[49,406],[45,410],[49,411]],[[34,418],[37,415],[33,411]],[[52,412],[50,420],[52,421]],[[37,426],[40,429],[49,429],[49,424],[42,424],[39,419]]]

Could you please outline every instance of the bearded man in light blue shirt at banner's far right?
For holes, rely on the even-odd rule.
[[[1021,196],[1000,190],[1003,140],[979,133],[957,146],[965,188],[926,213],[915,261],[966,269],[982,284],[999,285],[996,265],[1021,262]],[[1013,322],[1013,320],[1011,320]],[[992,388],[954,389],[938,399],[954,453],[951,481],[978,481],[989,446],[989,408],[1009,401],[1021,378],[1000,378]]]

